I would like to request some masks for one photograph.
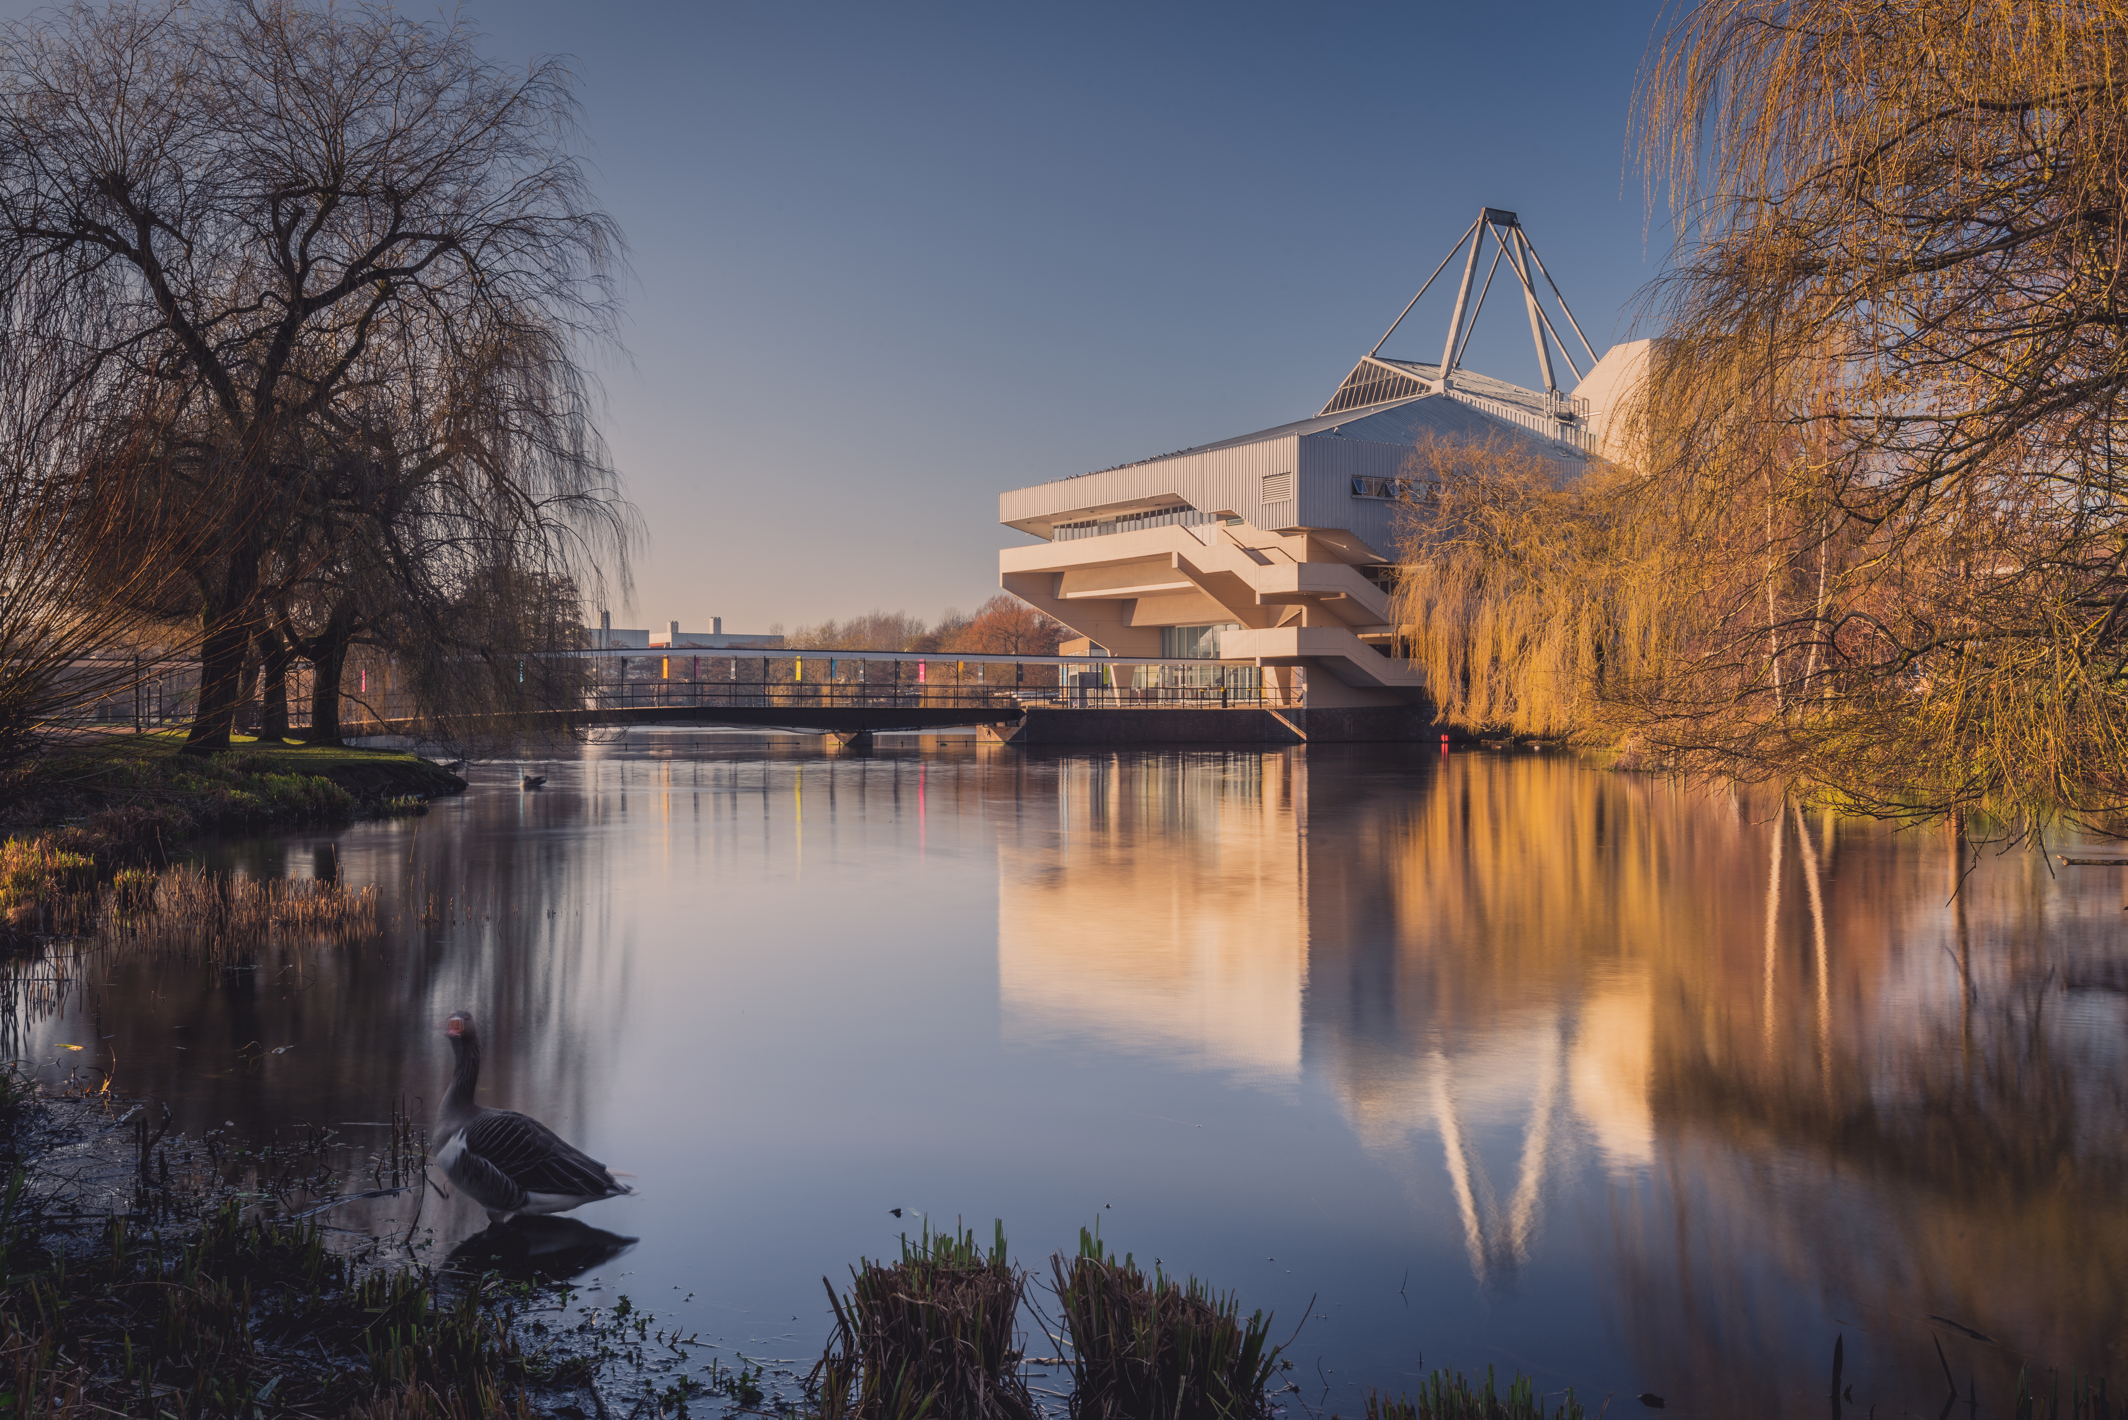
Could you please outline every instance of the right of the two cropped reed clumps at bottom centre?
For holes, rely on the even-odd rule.
[[[1070,1331],[1073,1420],[1243,1420],[1268,1416],[1264,1388],[1283,1345],[1270,1318],[1241,1318],[1232,1292],[1196,1277],[1177,1284],[1117,1262],[1098,1231],[1079,1231],[1079,1256],[1049,1258]]]

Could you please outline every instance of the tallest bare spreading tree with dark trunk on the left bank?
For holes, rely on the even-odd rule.
[[[77,4],[0,32],[0,339],[55,341],[196,494],[192,749],[228,743],[270,558],[294,539],[302,575],[336,551],[321,526],[366,526],[315,515],[334,470],[483,343],[575,373],[611,336],[619,234],[575,113],[560,62],[504,72],[377,6]]]

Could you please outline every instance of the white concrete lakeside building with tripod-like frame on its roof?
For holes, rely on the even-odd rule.
[[[1487,236],[1498,253],[1473,307]],[[1381,353],[1422,285],[1307,419],[1002,494],[998,519],[1041,541],[1000,551],[998,581],[1079,634],[1066,654],[1249,662],[1270,686],[1304,681],[1309,709],[1426,703],[1424,677],[1392,656],[1390,624],[1398,507],[1430,481],[1415,460],[1422,434],[1509,439],[1573,477],[1600,451],[1645,353],[1636,343],[1598,360],[1581,341],[1590,364],[1581,373],[1539,302],[1536,281],[1549,277],[1515,213],[1485,209],[1441,268],[1464,243],[1470,253],[1441,360]],[[1502,262],[1524,292],[1541,390],[1460,364]],[[1556,304],[1579,336],[1564,300]],[[1551,345],[1575,373],[1573,392],[1558,387]],[[1307,675],[1294,677],[1296,668]],[[1145,683],[1170,673],[1138,671]]]

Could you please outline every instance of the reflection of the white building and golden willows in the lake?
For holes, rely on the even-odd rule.
[[[1302,1073],[1479,1284],[1577,1254],[1683,1390],[1775,1386],[1828,1318],[1885,1392],[1941,1390],[1930,1316],[1998,1388],[2117,1369],[2117,884],[1553,756],[1381,764],[1070,762],[1055,845],[1002,849],[1009,1037]]]

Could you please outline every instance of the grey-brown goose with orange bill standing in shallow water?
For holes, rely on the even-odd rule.
[[[481,1035],[470,1011],[451,1011],[443,1022],[458,1069],[436,1113],[436,1162],[443,1173],[487,1209],[489,1222],[517,1213],[566,1213],[600,1199],[632,1194],[634,1186],[613,1177],[606,1165],[534,1118],[513,1109],[483,1109],[472,1103],[481,1084]]]

